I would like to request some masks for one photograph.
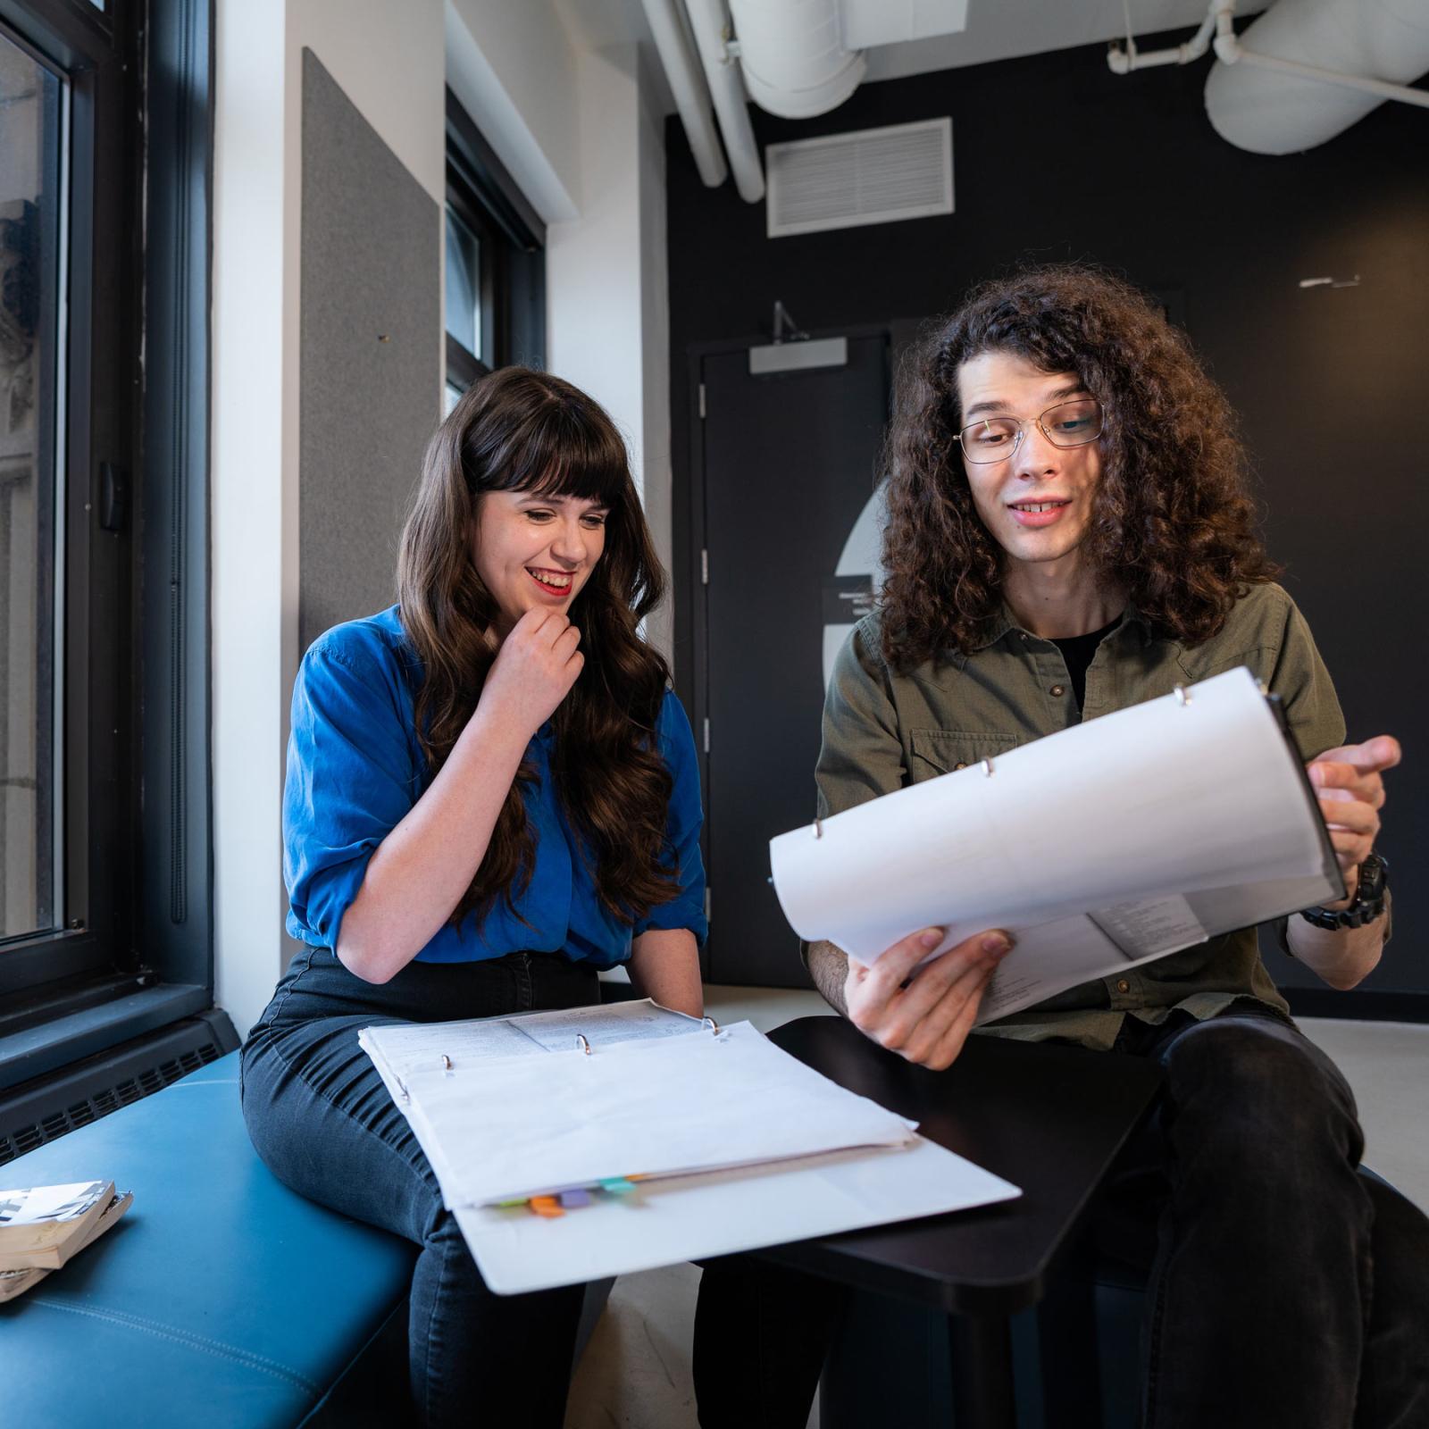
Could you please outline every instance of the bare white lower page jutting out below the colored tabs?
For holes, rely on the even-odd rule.
[[[497,1295],[544,1290],[704,1256],[965,1210],[1022,1195],[923,1137],[896,1150],[835,1152],[757,1170],[642,1185],[544,1220],[519,1208],[457,1208]]]

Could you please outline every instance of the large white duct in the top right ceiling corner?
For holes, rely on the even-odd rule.
[[[1232,0],[1215,10],[1206,113],[1239,149],[1298,153],[1386,99],[1425,104],[1406,81],[1429,70],[1429,0],[1276,0],[1239,37]]]

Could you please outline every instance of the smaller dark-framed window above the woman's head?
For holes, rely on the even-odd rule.
[[[447,90],[446,409],[546,353],[546,227]]]

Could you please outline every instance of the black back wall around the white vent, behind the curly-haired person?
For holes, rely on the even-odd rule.
[[[1380,840],[1398,933],[1365,986],[1429,993],[1429,114],[1385,104],[1306,154],[1249,154],[1206,119],[1208,64],[1117,77],[1095,46],[865,84],[810,121],[752,109],[760,146],[953,120],[956,213],[789,239],[766,239],[765,206],[733,184],[704,189],[669,121],[680,694],[689,703],[699,609],[690,347],[767,340],[775,299],[816,336],[882,323],[897,342],[1020,262],[1106,264],[1166,294],[1242,413],[1270,552],[1335,674],[1350,737],[1390,732],[1405,745]],[[1299,287],[1355,274],[1352,287]],[[700,713],[690,709],[696,723]],[[1286,960],[1275,972],[1315,982]]]

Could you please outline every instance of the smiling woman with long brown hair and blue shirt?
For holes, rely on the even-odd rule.
[[[399,603],[329,630],[299,673],[303,947],[244,1045],[244,1116],[289,1186],[420,1246],[423,1423],[559,1425],[582,1288],[486,1289],[357,1030],[593,1003],[622,963],[702,1012],[694,746],[639,634],[663,587],[609,416],[509,367],[432,440]]]

